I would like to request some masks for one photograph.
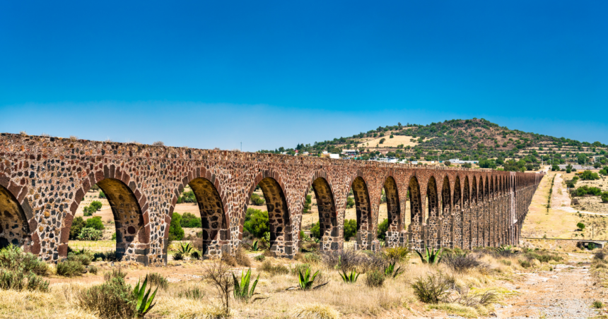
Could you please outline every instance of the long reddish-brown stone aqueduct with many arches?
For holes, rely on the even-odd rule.
[[[115,215],[122,260],[162,265],[177,197],[194,191],[204,254],[233,253],[251,193],[267,199],[271,251],[298,248],[305,195],[312,187],[321,248],[343,247],[346,197],[353,188],[357,247],[376,250],[385,189],[387,246],[517,244],[542,174],[422,167],[317,157],[198,150],[46,136],[0,135],[0,246],[13,243],[49,262],[67,254],[78,204],[96,183]],[[406,205],[411,223],[405,227]]]

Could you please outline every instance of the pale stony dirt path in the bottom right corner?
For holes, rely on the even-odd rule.
[[[498,318],[593,318],[595,300],[606,302],[604,291],[595,285],[589,267],[592,255],[571,253],[566,265],[555,265],[552,271],[522,274],[518,284],[505,283],[505,288],[520,295],[505,301],[496,309]]]

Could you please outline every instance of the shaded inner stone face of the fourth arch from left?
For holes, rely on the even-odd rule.
[[[247,203],[255,186],[259,185],[266,200],[268,224],[270,229],[270,251],[278,257],[293,257],[293,235],[291,234],[291,214],[287,205],[284,184],[274,171],[262,171],[256,178],[247,195]],[[245,212],[247,209],[245,209]],[[242,219],[241,224],[245,222]],[[242,235],[241,235],[242,236]],[[242,239],[242,238],[240,238]]]

